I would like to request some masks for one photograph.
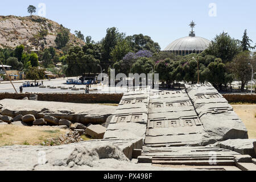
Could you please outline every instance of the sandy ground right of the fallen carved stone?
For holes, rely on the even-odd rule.
[[[256,138],[256,104],[254,105],[232,105],[234,111],[242,119],[248,130],[250,139]]]

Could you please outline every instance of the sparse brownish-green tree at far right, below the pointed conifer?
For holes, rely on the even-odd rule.
[[[233,61],[230,63],[230,68],[232,69],[234,75],[239,81],[241,81],[242,92],[246,83],[251,79],[251,67],[249,65],[250,61],[250,52],[243,51],[234,57]]]

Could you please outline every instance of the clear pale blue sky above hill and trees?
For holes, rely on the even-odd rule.
[[[163,50],[188,36],[188,24],[194,20],[196,36],[212,40],[224,31],[241,40],[247,29],[256,43],[255,0],[2,0],[0,15],[27,16],[28,5],[37,7],[35,15],[63,24],[72,33],[80,30],[96,42],[107,28],[117,27],[126,35],[148,35]]]

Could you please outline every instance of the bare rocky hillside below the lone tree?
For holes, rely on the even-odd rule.
[[[60,24],[40,16],[0,16],[0,47],[14,48],[23,44],[28,50],[56,47],[56,35],[63,28]],[[67,46],[82,46],[84,42],[69,34]]]

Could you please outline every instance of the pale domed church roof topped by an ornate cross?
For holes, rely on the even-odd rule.
[[[175,55],[184,56],[191,53],[201,53],[208,48],[210,40],[196,36],[193,31],[196,26],[195,22],[192,21],[189,26],[192,28],[189,36],[175,40],[164,49],[164,52],[172,52]]]

